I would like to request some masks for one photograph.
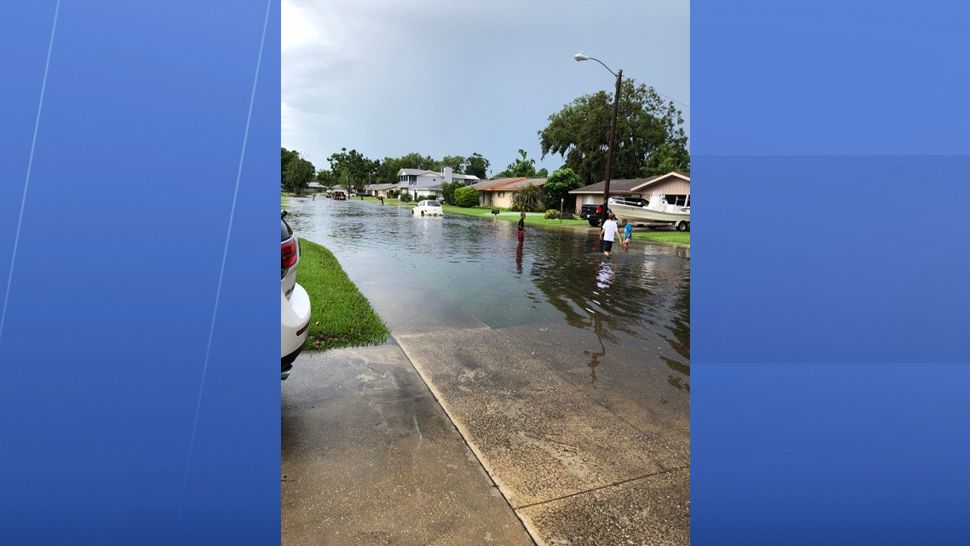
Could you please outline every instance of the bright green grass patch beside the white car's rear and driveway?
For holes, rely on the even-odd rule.
[[[344,273],[326,248],[300,240],[296,280],[310,295],[310,332],[306,349],[379,345],[387,341],[387,326],[367,298]]]

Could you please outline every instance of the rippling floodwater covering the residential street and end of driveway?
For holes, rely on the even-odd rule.
[[[639,377],[686,416],[689,248],[631,243],[605,258],[592,229],[530,228],[527,220],[520,245],[512,222],[416,218],[404,207],[325,198],[290,198],[287,210],[297,234],[334,253],[392,333],[428,316],[456,328],[473,317],[534,341],[564,367],[581,361],[592,388],[608,379],[635,398]]]

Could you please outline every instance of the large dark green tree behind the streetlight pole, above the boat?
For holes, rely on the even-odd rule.
[[[549,116],[539,131],[542,157],[558,154],[592,184],[606,174],[613,94],[583,95]],[[617,115],[613,178],[638,178],[690,170],[683,114],[652,87],[623,82]]]

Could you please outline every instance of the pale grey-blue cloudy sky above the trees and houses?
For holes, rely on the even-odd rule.
[[[479,152],[491,173],[572,99],[613,77],[584,52],[690,104],[689,0],[283,0],[282,144],[318,168]],[[690,119],[690,110],[681,107]]]

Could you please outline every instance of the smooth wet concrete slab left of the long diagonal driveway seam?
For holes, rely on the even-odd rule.
[[[283,544],[533,544],[398,347],[298,366],[282,384]]]

